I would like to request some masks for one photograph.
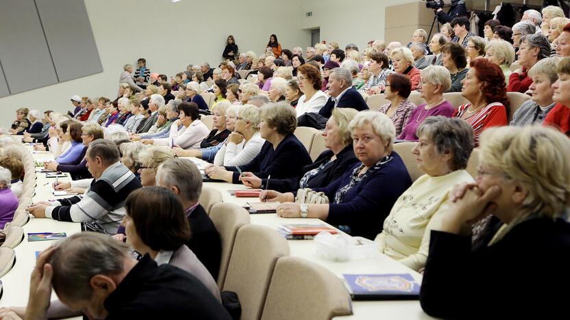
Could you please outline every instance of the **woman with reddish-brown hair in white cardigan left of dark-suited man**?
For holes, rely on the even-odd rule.
[[[327,103],[327,96],[321,91],[321,72],[315,66],[303,64],[297,68],[297,81],[299,89],[303,92],[297,102],[297,118],[303,114],[319,113],[319,110]]]

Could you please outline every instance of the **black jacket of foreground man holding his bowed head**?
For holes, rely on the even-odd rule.
[[[103,305],[107,319],[232,319],[195,276],[172,265],[159,267],[148,254]]]

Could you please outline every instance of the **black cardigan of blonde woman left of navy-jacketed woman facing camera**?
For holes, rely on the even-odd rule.
[[[333,155],[334,154],[331,150],[323,151],[323,153],[321,153],[313,163],[303,167],[301,174],[297,178],[271,179],[271,181],[269,181],[269,188],[280,192],[297,192],[301,178],[310,170],[317,169],[320,165],[329,161]],[[338,152],[336,160],[333,161],[331,165],[323,168],[321,172],[309,179],[307,187],[311,189],[326,187],[332,183],[332,181],[335,181],[337,178],[345,174],[345,172],[347,172],[347,170],[357,162],[358,159],[356,159],[356,156],[354,155],[352,145],[346,146],[342,151]]]

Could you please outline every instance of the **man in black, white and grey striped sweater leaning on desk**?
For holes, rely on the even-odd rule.
[[[82,222],[82,230],[114,235],[125,216],[129,194],[142,187],[119,159],[119,148],[106,139],[91,142],[87,168],[94,177],[85,194],[51,202],[38,202],[27,211],[36,218]]]

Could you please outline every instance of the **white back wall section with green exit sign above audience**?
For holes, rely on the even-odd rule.
[[[384,12],[391,5],[418,0],[301,1],[301,29],[321,28],[321,41],[338,42],[340,49],[354,43],[366,48],[370,40],[384,39]],[[312,12],[312,16],[305,16]]]

